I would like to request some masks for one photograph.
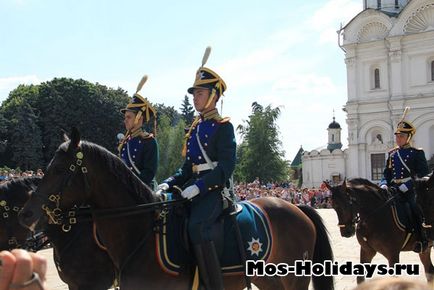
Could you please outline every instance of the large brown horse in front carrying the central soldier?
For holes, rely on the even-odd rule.
[[[72,131],[71,140],[60,145],[46,174],[31,200],[21,212],[21,222],[32,227],[43,214],[41,207],[52,194],[60,192],[61,207],[86,203],[94,209],[101,240],[120,271],[122,289],[189,289],[192,271],[177,276],[164,272],[155,253],[154,225],[157,209],[140,211],[138,204],[154,205],[157,196],[145,186],[115,155],[90,142],[81,142]],[[83,194],[76,194],[77,192]],[[322,263],[333,254],[327,232],[313,209],[303,209],[277,198],[256,199],[271,222],[272,250],[267,263],[294,265],[296,260]],[[129,207],[134,216],[98,218],[101,211]],[[103,209],[103,210],[101,210]],[[148,208],[149,209],[149,208]],[[260,289],[307,290],[311,277],[255,276],[252,282]],[[333,289],[333,277],[312,277],[315,289]],[[242,276],[224,276],[226,289],[243,289]]]

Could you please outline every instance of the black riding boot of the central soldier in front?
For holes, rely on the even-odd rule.
[[[206,290],[223,289],[223,276],[214,242],[195,245],[199,277]]]

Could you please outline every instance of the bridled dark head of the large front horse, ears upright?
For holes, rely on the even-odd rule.
[[[70,209],[86,199],[84,155],[80,133],[72,129],[71,139],[57,149],[39,186],[19,214],[22,225],[34,229],[43,213],[56,223],[61,209]]]

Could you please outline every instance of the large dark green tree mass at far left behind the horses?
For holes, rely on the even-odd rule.
[[[15,126],[21,125],[20,122],[26,125],[26,119],[22,118],[27,118],[35,123],[35,127],[31,127],[33,132],[27,133],[36,140],[39,140],[37,135],[40,134],[42,146],[37,145],[37,142],[33,147],[27,144],[26,152],[15,153],[14,146],[17,145],[12,145],[15,141],[9,141],[5,152],[0,154],[0,161],[14,168],[19,158],[12,158],[13,154],[27,156],[25,154],[30,154],[28,152],[38,150],[42,154],[42,164],[35,167],[44,167],[63,141],[61,130],[69,132],[73,126],[79,128],[84,139],[115,152],[116,135],[124,130],[123,116],[119,110],[128,101],[127,93],[120,88],[114,90],[82,79],[55,78],[37,86],[20,85],[9,94],[0,108],[4,118],[15,120],[15,123],[9,122],[6,126],[4,135],[7,138],[3,139],[17,138],[19,135],[15,133]],[[19,134],[23,135],[23,132]],[[32,160],[39,160],[39,153],[35,151],[34,154]],[[32,163],[31,166],[34,165]]]

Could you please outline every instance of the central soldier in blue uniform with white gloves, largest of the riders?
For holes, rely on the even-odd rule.
[[[209,54],[209,48],[207,53]],[[235,168],[236,142],[229,118],[222,118],[216,103],[226,90],[222,78],[209,68],[198,69],[191,88],[199,112],[185,136],[185,162],[178,172],[159,185],[167,190],[180,186],[181,195],[191,200],[188,233],[194,249],[199,276],[205,289],[223,289],[219,254],[222,251],[222,191],[229,187]]]

